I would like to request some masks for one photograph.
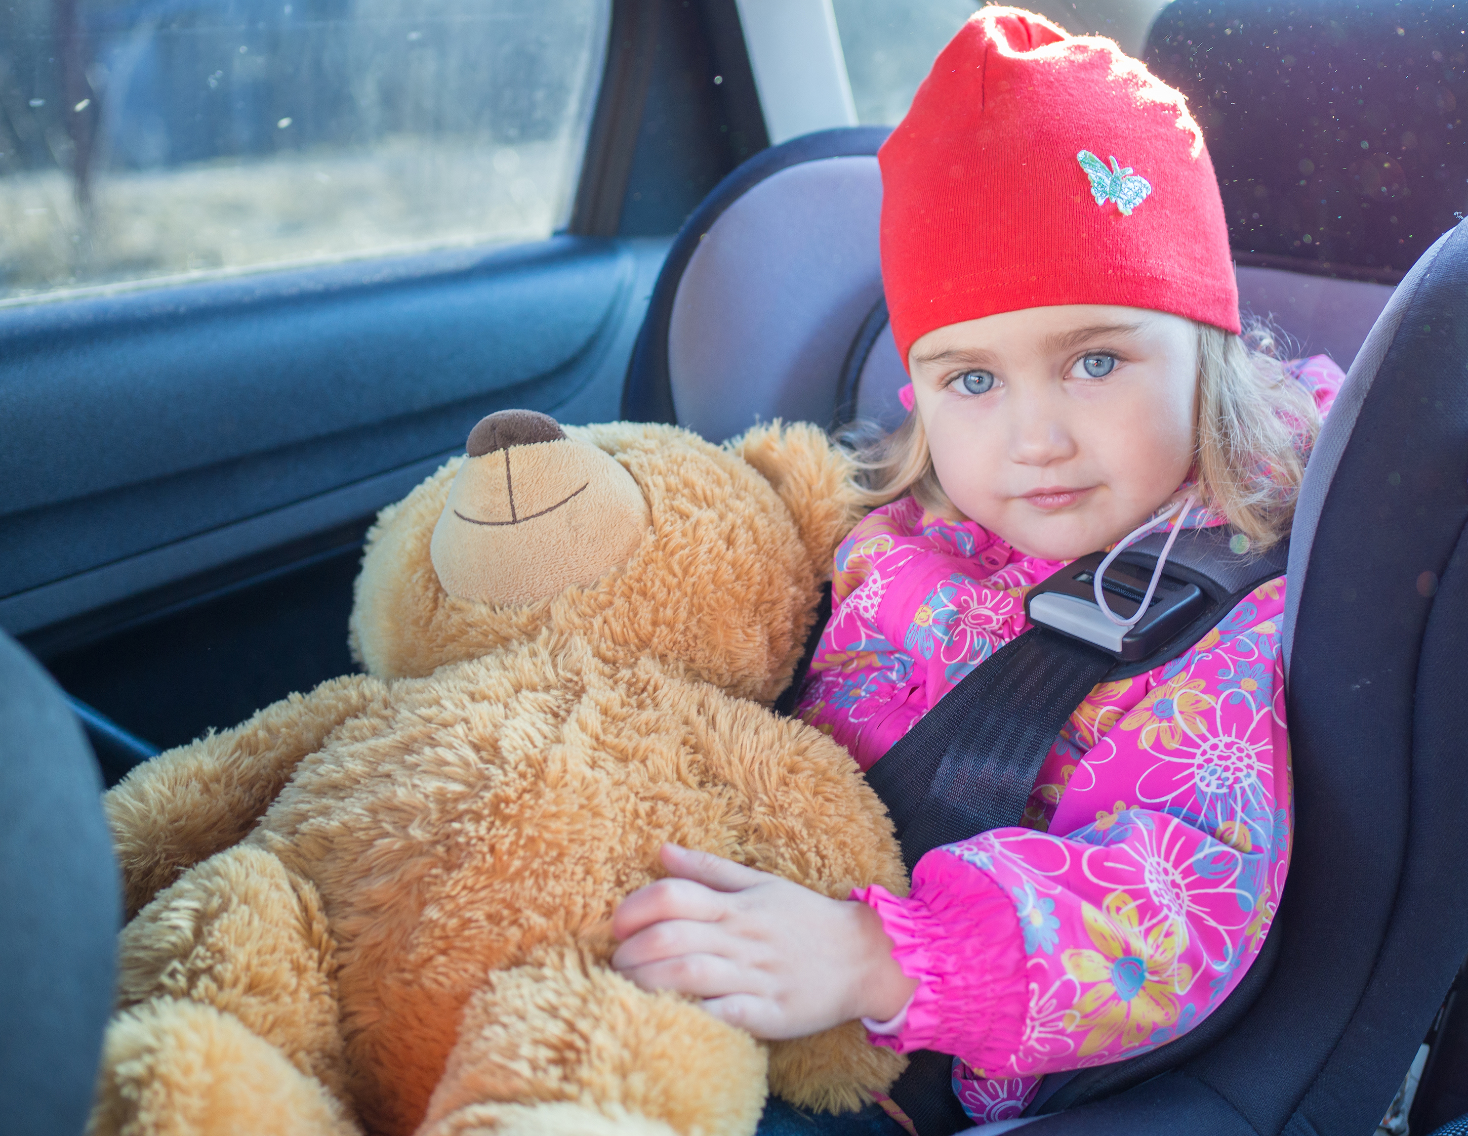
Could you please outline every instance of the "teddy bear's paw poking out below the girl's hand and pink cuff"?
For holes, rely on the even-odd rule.
[[[907,1058],[872,1045],[860,1022],[809,1038],[772,1042],[769,1091],[799,1108],[850,1113],[871,1104],[907,1067]]]

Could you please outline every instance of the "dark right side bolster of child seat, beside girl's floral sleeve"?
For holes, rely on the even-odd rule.
[[[1292,572],[1296,835],[1274,970],[1208,1052],[1026,1136],[1364,1136],[1468,954],[1468,227],[1402,292],[1327,423],[1339,465],[1308,474],[1329,486]]]

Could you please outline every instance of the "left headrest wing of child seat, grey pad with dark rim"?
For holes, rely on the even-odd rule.
[[[826,426],[843,361],[882,294],[884,128],[765,150],[674,241],[628,368],[622,414],[722,442],[760,418]]]

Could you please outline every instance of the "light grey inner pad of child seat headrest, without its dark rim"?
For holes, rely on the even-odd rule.
[[[790,166],[734,201],[678,282],[678,423],[722,442],[756,420],[831,423],[851,339],[882,292],[875,157]]]

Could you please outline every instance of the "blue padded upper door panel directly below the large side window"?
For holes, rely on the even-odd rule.
[[[662,247],[558,238],[386,282],[236,288],[204,314],[159,294],[141,318],[7,313],[0,624],[23,634],[371,514],[493,409],[612,417],[602,373]]]

